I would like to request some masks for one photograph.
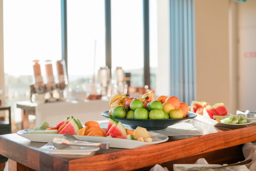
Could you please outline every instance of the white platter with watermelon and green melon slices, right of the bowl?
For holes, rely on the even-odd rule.
[[[196,120],[214,126],[231,127],[252,123],[252,121],[246,119],[242,114],[235,115],[228,113],[224,103],[216,103],[210,106],[207,102],[192,101],[189,112],[198,115],[195,118]]]

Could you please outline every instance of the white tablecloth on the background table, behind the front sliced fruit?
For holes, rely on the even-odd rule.
[[[106,119],[101,112],[109,109],[109,102],[103,100],[53,102],[35,106],[36,127],[42,121],[47,121],[50,126],[55,126],[65,117],[74,116],[82,124],[86,121],[100,121]]]

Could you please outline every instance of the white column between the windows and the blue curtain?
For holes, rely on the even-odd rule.
[[[156,71],[157,95],[170,96],[170,2],[157,1],[158,14],[158,69]]]

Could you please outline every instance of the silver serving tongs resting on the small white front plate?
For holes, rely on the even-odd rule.
[[[53,139],[53,145],[57,149],[65,149],[70,145],[80,145],[80,146],[97,146],[100,149],[109,149],[109,142],[95,142],[95,141],[83,141],[76,139],[71,134],[64,134],[65,138],[55,137]]]

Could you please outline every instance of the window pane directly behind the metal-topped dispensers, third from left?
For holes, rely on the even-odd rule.
[[[132,86],[143,86],[143,1],[111,1],[112,69],[131,73]]]

